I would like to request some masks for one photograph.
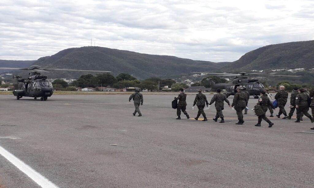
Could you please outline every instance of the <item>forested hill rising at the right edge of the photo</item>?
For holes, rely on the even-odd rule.
[[[272,44],[252,50],[222,70],[314,68],[314,40]]]

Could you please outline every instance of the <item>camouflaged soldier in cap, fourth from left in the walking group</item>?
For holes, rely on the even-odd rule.
[[[236,123],[237,125],[242,125],[244,123],[243,121],[243,113],[242,111],[247,105],[247,95],[243,92],[241,92],[241,87],[236,88],[236,94],[233,98],[233,102],[231,104],[231,107],[235,107],[236,114],[238,115],[239,122]]]

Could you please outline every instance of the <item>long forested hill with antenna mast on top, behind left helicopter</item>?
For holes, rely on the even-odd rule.
[[[128,73],[138,79],[153,76],[175,77],[193,71],[215,71],[228,64],[178,58],[167,55],[149,55],[126,50],[97,46],[70,48],[55,55],[42,57],[34,65],[44,68],[69,68],[82,70],[107,70],[114,75]],[[77,78],[90,72],[57,72],[53,78]]]

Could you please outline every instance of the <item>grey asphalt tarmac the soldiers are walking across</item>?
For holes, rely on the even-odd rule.
[[[142,117],[132,115],[128,95],[0,95],[0,146],[58,187],[314,187],[308,118],[255,127],[249,110],[236,125],[225,105],[218,123],[212,105],[207,122],[176,120],[175,94],[143,95]],[[187,96],[191,118],[194,96]],[[251,109],[257,99],[249,102]],[[0,154],[0,187],[40,186]]]

